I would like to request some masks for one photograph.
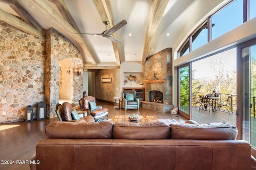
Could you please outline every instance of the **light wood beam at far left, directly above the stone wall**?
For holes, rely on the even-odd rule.
[[[39,31],[38,29],[28,25],[27,23],[19,20],[18,18],[12,16],[11,14],[9,14],[8,12],[5,12],[4,10],[0,9],[0,20],[26,32],[29,33],[31,35],[35,35],[38,37],[43,37],[43,32]]]

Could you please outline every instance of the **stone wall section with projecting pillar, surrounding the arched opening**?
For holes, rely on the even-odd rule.
[[[46,30],[46,104],[47,117],[56,117],[55,108],[59,102],[59,84],[60,84],[60,61],[69,58],[72,61],[73,69],[81,68],[83,73],[82,55],[78,49],[58,31],[50,28]],[[63,74],[63,73],[62,73]],[[73,101],[78,103],[82,98],[83,74],[73,75]],[[62,82],[65,83],[65,82]]]

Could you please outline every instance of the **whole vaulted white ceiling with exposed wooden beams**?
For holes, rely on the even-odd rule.
[[[172,47],[196,14],[198,3],[200,0],[0,0],[0,19],[36,36],[53,27],[76,45],[84,68],[120,68],[124,61],[144,64],[150,55]],[[102,33],[104,21],[110,29],[122,20],[127,24],[113,34],[120,45],[101,35],[74,34]]]

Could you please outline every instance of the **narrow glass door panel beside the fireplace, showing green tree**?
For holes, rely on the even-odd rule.
[[[191,113],[191,63],[178,67],[178,107],[179,113],[190,119]]]

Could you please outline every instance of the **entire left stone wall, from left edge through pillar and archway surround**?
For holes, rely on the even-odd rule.
[[[56,117],[59,63],[66,58],[72,61],[73,69],[80,68],[83,74],[80,52],[53,28],[46,31],[46,37],[36,37],[0,21],[0,123],[24,121],[28,105],[33,107],[36,119],[41,101],[46,103],[47,117]],[[70,74],[72,98],[78,103],[83,75]]]

